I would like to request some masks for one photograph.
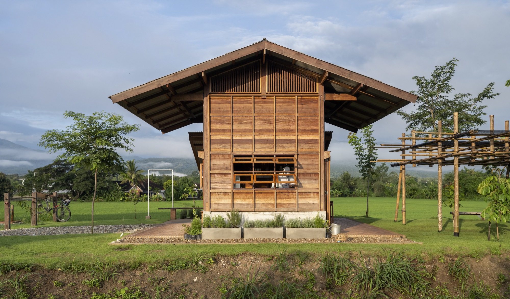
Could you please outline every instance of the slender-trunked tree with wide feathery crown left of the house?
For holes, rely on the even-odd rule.
[[[66,111],[64,118],[74,123],[66,130],[49,130],[41,136],[39,146],[48,153],[64,151],[58,159],[65,159],[75,167],[87,167],[94,172],[92,196],[92,229],[94,233],[94,201],[97,192],[97,171],[122,169],[123,159],[117,149],[132,153],[134,139],[125,135],[139,130],[137,124],[127,124],[122,116],[114,113],[94,112],[90,116]]]

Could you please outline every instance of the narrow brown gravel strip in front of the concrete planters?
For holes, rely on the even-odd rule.
[[[322,239],[213,239],[185,240],[184,238],[131,237],[113,241],[111,244],[234,244],[234,243],[337,243],[334,238]],[[418,243],[400,237],[351,237],[341,243]]]

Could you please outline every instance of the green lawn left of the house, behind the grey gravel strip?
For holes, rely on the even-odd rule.
[[[195,201],[195,204],[201,207],[201,201]],[[174,201],[173,206],[192,207],[193,201]],[[90,202],[71,202],[69,209],[71,210],[71,218],[67,222],[54,222],[51,215],[46,213],[39,217],[37,227],[56,227],[56,226],[89,226],[92,203]],[[151,219],[145,219],[147,215],[147,202],[140,202],[136,205],[133,203],[112,203],[112,202],[96,202],[94,203],[94,225],[132,225],[132,224],[156,224],[170,219],[170,210],[158,210],[158,208],[171,208],[172,202],[150,202],[149,211]],[[14,204],[14,220],[18,220],[23,216],[29,216],[27,212],[22,210],[17,204]],[[24,224],[13,224],[11,229],[30,228],[30,218],[25,218]],[[0,226],[3,230],[4,226]]]

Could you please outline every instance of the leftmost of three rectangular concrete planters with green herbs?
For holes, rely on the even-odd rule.
[[[241,213],[237,210],[227,213],[228,220],[221,215],[203,216],[202,239],[240,239]]]

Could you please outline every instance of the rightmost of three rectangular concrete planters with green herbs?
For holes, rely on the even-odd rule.
[[[329,222],[317,215],[313,218],[293,218],[285,221],[285,234],[289,239],[322,239],[326,237]]]

